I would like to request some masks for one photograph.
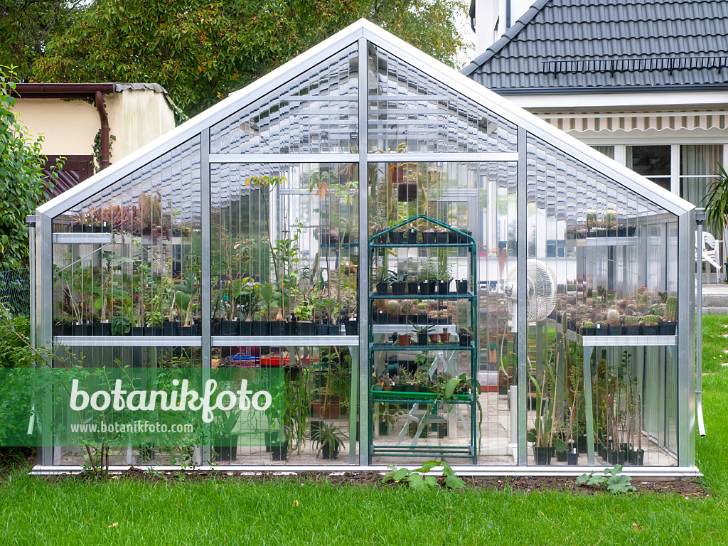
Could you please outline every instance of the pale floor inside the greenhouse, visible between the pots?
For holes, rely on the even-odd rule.
[[[507,395],[499,395],[497,392],[483,392],[480,394],[480,405],[483,408],[482,440],[480,454],[478,456],[478,464],[483,465],[515,465],[515,440],[510,440],[510,410],[508,409]],[[535,417],[534,411],[529,411],[529,422],[533,422]],[[450,411],[448,414],[448,434],[445,438],[439,438],[436,431],[430,430],[427,436],[422,434],[416,442],[418,446],[428,446],[432,451],[427,454],[417,454],[412,456],[374,456],[373,465],[397,464],[398,466],[419,465],[433,458],[442,458],[438,455],[438,446],[461,446],[467,447],[470,442],[470,422],[464,408],[462,409],[463,419],[459,419],[456,411]],[[312,418],[315,419],[315,418]],[[441,419],[440,422],[444,422]],[[341,416],[341,419],[327,420],[332,424],[340,427],[341,430],[347,430],[349,427],[348,416]],[[429,426],[429,425],[428,425]],[[389,432],[389,431],[388,431]],[[387,448],[392,446],[408,446],[414,442],[414,427],[408,427],[407,412],[404,412],[397,418],[397,422],[392,425],[391,433],[387,435],[375,434],[374,445],[378,448]],[[348,435],[347,435],[348,436]],[[670,467],[676,466],[677,459],[667,449],[657,446],[652,440],[643,436],[642,446],[645,448],[644,464],[649,466]],[[87,464],[87,457],[82,450],[78,448],[65,448],[66,454],[56,460],[58,466],[82,466]],[[191,450],[190,450],[191,451]],[[58,452],[58,450],[57,450]],[[339,455],[336,459],[323,459],[316,456],[312,448],[312,440],[306,438],[304,448],[299,452],[295,449],[288,454],[288,460],[274,461],[272,455],[266,452],[265,446],[238,446],[234,459],[229,461],[216,461],[213,464],[221,467],[235,465],[290,465],[290,466],[317,466],[317,465],[338,465],[348,464],[349,442],[344,440]],[[195,450],[193,455],[199,460],[199,450]],[[530,448],[528,450],[528,464],[534,464],[534,454]],[[468,465],[472,464],[472,458],[448,458],[451,464]],[[110,464],[128,465],[134,464],[139,466],[148,465],[178,465],[184,464],[181,458],[170,457],[167,453],[155,450],[151,457],[141,459],[138,450],[131,448],[112,449],[110,456]],[[188,466],[188,462],[186,463]],[[566,465],[566,462],[557,462],[553,456],[551,465]],[[579,455],[579,465],[587,464],[587,455]],[[612,463],[596,456],[596,464],[610,466]]]

